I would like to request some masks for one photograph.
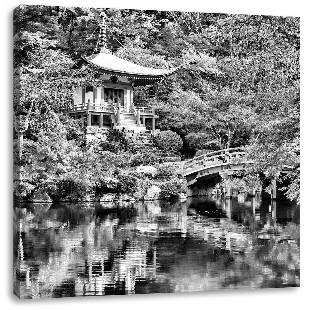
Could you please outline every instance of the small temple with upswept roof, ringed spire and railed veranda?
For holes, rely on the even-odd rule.
[[[92,86],[76,88],[73,106],[64,113],[75,119],[87,117],[87,126],[112,129],[125,127],[126,130],[155,129],[155,119],[159,116],[155,114],[154,106],[135,106],[134,89],[165,80],[179,67],[153,69],[112,55],[107,49],[104,16],[100,27],[100,52],[88,57],[81,55],[72,69],[88,65],[102,81],[102,86],[95,89]]]

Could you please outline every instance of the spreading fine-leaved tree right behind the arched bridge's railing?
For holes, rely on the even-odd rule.
[[[200,97],[194,91],[174,91],[169,123],[197,148],[230,148],[237,133],[246,130],[252,109],[247,98],[233,90],[205,91]]]

